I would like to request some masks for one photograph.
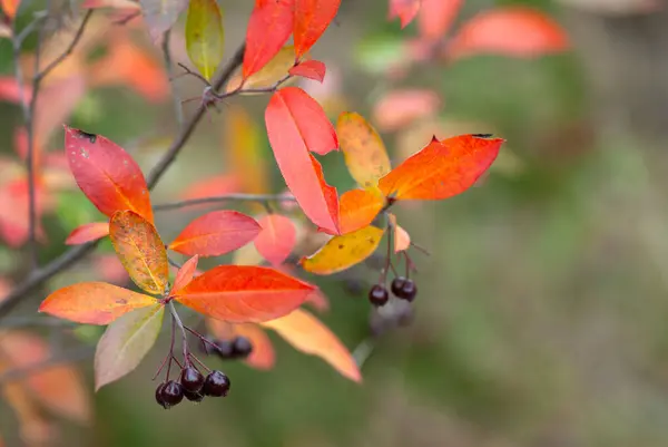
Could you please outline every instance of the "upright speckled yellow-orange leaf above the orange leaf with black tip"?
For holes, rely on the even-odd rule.
[[[376,186],[379,178],[391,171],[385,145],[362,115],[343,113],[336,123],[336,134],[348,172],[362,187]]]

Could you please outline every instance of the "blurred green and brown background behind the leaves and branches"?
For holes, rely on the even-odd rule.
[[[230,56],[245,36],[253,2],[219,3]],[[507,4],[468,0],[456,23]],[[640,0],[512,4],[546,11],[564,28],[571,48],[533,58],[422,62],[396,76],[401,45],[415,35],[415,25],[400,30],[397,21],[389,22],[385,0],[347,0],[312,51],[327,64],[330,80],[317,90],[313,82],[303,85],[333,119],[356,110],[374,123],[377,101],[396,88],[438,96],[433,114],[382,133],[395,163],[434,133],[441,138],[493,133],[508,140],[477,187],[445,202],[396,207],[414,242],[431,252],[414,254],[420,294],[411,325],[370,338],[365,294],[377,278],[373,265],[345,275],[305,276],[328,297],[331,310],[320,317],[343,342],[351,350],[373,346],[362,385],[272,333],[274,369],[212,360],[232,378],[230,396],[165,411],[154,401],[150,381],[168,341],[161,337],[137,371],[91,397],[89,426],[59,421],[50,445],[668,445],[667,8],[659,2],[650,10]],[[110,26],[100,20],[96,27]],[[173,32],[173,51],[176,61],[187,62],[181,30],[183,21]],[[130,35],[161,70],[159,49],[143,28]],[[104,49],[96,51],[90,58],[104,59]],[[107,67],[115,68],[121,70]],[[12,75],[7,39],[0,40],[0,70]],[[177,128],[160,78],[150,80],[137,81],[136,88],[100,81],[59,119],[119,143],[148,172]],[[183,98],[202,93],[194,78],[176,82]],[[226,116],[244,107],[263,130],[266,100],[235,97],[219,114],[209,114],[155,190],[154,203],[177,200],[194,182],[229,172]],[[186,116],[195,107],[186,104]],[[14,156],[20,124],[20,108],[0,103],[3,156]],[[281,192],[284,184],[261,135],[266,181]],[[45,146],[59,150],[61,142],[57,128]],[[353,187],[342,157],[327,156],[323,164],[330,183],[340,191]],[[165,212],[157,225],[168,240],[202,212]],[[43,218],[48,243],[41,261],[65,251],[67,234],[98,216],[77,191],[59,194]],[[105,244],[99,253],[112,251]],[[96,260],[24,297],[11,318],[31,315],[49,290],[100,278],[102,261]],[[24,249],[0,242],[0,276],[11,283],[27,269]],[[91,328],[33,330],[58,348],[99,337]],[[78,365],[92,390],[90,357]],[[21,445],[16,416],[2,400],[0,408],[6,443]]]

